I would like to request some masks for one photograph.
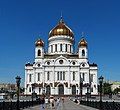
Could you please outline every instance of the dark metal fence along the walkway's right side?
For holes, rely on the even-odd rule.
[[[120,102],[80,101],[80,104],[100,110],[120,110]]]

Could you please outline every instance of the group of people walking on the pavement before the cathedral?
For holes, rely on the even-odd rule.
[[[61,104],[64,103],[64,98],[54,98],[53,96],[50,97],[40,97],[40,110],[47,110],[49,109],[55,109],[58,110],[58,108],[61,106]]]

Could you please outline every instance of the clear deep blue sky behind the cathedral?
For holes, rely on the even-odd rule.
[[[0,83],[24,82],[24,65],[34,61],[34,43],[45,42],[61,12],[75,34],[77,50],[81,33],[88,42],[90,63],[98,76],[120,81],[119,0],[0,0]]]

